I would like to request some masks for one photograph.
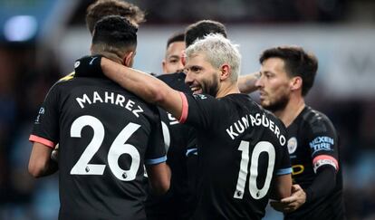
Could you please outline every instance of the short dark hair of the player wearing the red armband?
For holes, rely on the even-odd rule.
[[[269,58],[282,59],[285,72],[292,77],[300,76],[303,79],[303,96],[310,91],[318,70],[318,60],[312,53],[306,53],[299,46],[279,46],[265,50],[261,54],[259,62],[263,63]]]

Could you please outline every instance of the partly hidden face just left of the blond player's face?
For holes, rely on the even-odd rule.
[[[183,71],[184,65],[181,62],[181,55],[184,50],[185,42],[174,42],[169,44],[166,52],[166,58],[163,60],[164,73]]]

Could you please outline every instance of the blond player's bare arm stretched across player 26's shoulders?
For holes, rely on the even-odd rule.
[[[145,72],[125,67],[106,58],[101,58],[101,70],[112,81],[133,92],[143,100],[159,105],[180,119],[183,100],[179,91]]]

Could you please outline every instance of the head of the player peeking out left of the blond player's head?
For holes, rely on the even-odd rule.
[[[184,70],[184,64],[181,61],[184,50],[185,33],[174,33],[168,38],[166,56],[162,62],[164,74],[182,72]]]

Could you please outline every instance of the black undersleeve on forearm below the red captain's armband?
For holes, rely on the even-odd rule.
[[[332,166],[319,168],[312,185],[306,188],[306,202],[308,204],[317,198],[328,195],[336,186],[336,170]]]

